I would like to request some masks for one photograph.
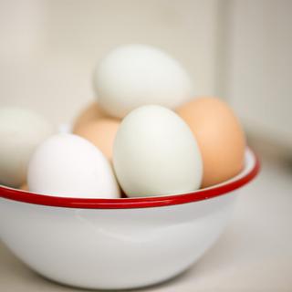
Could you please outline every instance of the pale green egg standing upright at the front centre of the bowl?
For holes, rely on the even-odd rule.
[[[202,159],[192,131],[172,110],[132,110],[114,141],[113,165],[130,197],[192,192],[200,187]]]

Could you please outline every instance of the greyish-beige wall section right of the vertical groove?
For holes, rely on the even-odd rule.
[[[256,139],[292,151],[292,1],[230,1],[224,93]]]

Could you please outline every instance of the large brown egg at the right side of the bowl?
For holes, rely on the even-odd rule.
[[[222,183],[240,172],[245,159],[245,133],[222,100],[198,98],[176,112],[186,121],[203,157],[203,187]]]

